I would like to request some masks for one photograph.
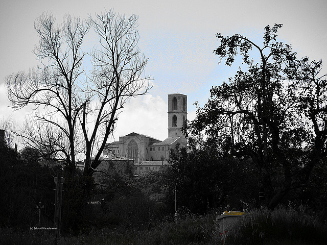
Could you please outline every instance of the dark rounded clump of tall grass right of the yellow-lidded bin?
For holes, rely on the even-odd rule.
[[[294,208],[254,209],[228,229],[226,244],[327,244],[318,217]]]

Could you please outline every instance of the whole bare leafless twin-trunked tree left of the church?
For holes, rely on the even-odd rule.
[[[82,152],[84,175],[92,174],[120,109],[150,89],[136,26],[135,15],[126,19],[112,11],[87,20],[66,15],[60,27],[43,14],[34,24],[41,65],[6,78],[13,108],[36,106],[37,123],[27,123],[22,136],[63,160],[71,175]],[[92,30],[99,44],[86,53],[83,41]]]

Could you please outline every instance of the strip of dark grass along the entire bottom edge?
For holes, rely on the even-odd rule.
[[[184,215],[174,222],[163,222],[151,230],[89,229],[79,236],[62,236],[55,242],[54,231],[0,230],[0,244],[222,244],[217,213]],[[317,217],[294,208],[253,209],[229,227],[224,244],[313,245],[327,244],[327,227]]]

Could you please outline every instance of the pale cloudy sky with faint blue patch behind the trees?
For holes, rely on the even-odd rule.
[[[43,12],[51,12],[60,24],[67,13],[87,18],[105,10],[138,16],[139,43],[149,58],[148,94],[131,99],[120,113],[114,140],[131,132],[164,140],[168,137],[168,94],[188,96],[188,119],[196,116],[195,102],[203,106],[212,86],[233,77],[237,66],[218,64],[213,54],[216,33],[242,34],[262,43],[264,27],[284,26],[278,32],[292,44],[298,57],[327,62],[327,2],[325,0],[2,0],[0,3],[0,119],[12,116],[20,125],[29,108],[13,111],[9,106],[5,77],[39,64],[33,54],[39,42],[33,28]],[[327,73],[327,65],[323,68]]]

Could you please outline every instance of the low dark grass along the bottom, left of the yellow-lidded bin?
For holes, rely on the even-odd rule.
[[[186,215],[174,222],[164,222],[151,230],[92,229],[78,237],[64,236],[59,244],[217,244],[219,232],[215,224],[216,213]],[[55,235],[49,231],[0,231],[2,244],[49,244]],[[219,243],[218,243],[219,244]]]

